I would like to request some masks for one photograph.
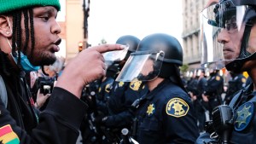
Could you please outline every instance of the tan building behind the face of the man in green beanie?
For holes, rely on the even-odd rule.
[[[84,37],[83,4],[85,1],[88,3],[88,0],[66,0],[65,4],[61,5],[61,13],[65,13],[65,19],[58,21],[62,39],[60,47],[61,56],[65,57],[67,62],[79,53],[79,43],[87,42],[87,34]]]

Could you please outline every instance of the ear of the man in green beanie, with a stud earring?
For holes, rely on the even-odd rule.
[[[4,37],[12,37],[13,33],[12,33],[12,30],[10,29],[10,27],[11,26],[9,26],[9,21],[8,21],[7,16],[0,15],[0,33]]]

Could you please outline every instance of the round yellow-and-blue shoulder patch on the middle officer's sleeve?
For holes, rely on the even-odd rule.
[[[189,105],[181,98],[173,98],[166,105],[166,113],[170,116],[180,118],[189,112]]]

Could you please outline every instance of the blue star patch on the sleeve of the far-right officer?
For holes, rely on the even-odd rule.
[[[235,117],[235,130],[241,131],[247,128],[253,118],[254,106],[252,102],[247,102],[238,107]]]

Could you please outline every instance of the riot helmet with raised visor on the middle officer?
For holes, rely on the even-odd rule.
[[[157,77],[169,78],[172,69],[182,64],[183,49],[177,38],[165,33],[154,33],[143,38],[116,80],[132,81],[137,78],[150,81]]]

